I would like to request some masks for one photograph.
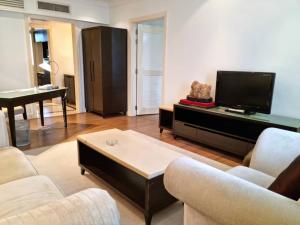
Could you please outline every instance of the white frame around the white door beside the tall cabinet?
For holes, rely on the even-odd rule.
[[[149,20],[157,20],[162,19],[164,21],[164,62],[163,62],[163,84],[162,84],[162,102],[164,102],[164,96],[165,96],[165,79],[166,79],[166,56],[167,56],[167,29],[168,29],[168,15],[167,12],[161,12],[157,14],[152,14],[144,17],[139,18],[133,18],[130,22],[130,37],[129,37],[129,43],[128,53],[130,54],[128,56],[129,59],[129,66],[128,66],[128,116],[137,116],[136,111],[136,105],[137,105],[137,24],[146,22]]]

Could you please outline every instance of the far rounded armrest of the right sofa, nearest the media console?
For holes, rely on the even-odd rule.
[[[300,154],[300,134],[268,128],[259,136],[250,167],[277,177]]]

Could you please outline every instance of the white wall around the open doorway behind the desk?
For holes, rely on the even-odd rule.
[[[37,0],[25,0],[24,9],[0,6],[0,90],[32,85],[29,75],[30,54],[27,54],[29,41],[26,40],[27,31],[25,31],[28,29],[28,17],[72,22],[75,25],[75,37],[77,38],[75,47],[78,52],[75,54],[80,57],[75,63],[75,73],[78,74],[75,85],[79,90],[76,99],[79,103],[78,110],[83,112],[85,107],[80,31],[82,27],[108,24],[108,4],[101,0],[48,0],[48,2],[67,4],[71,8],[71,13],[39,10],[37,9]],[[10,76],[8,77],[7,74]]]

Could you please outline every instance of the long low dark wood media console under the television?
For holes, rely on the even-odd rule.
[[[300,132],[300,120],[257,113],[226,112],[224,107],[204,109],[174,105],[173,134],[239,156],[245,156],[263,130],[276,127]]]

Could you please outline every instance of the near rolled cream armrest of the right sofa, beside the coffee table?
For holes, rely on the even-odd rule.
[[[189,158],[172,162],[164,182],[170,194],[217,224],[300,224],[296,201]]]

